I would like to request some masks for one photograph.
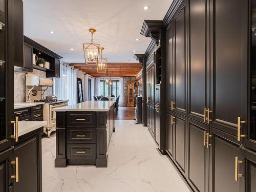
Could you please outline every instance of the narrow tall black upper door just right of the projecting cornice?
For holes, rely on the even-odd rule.
[[[166,30],[166,108],[171,110],[174,101],[174,24]]]

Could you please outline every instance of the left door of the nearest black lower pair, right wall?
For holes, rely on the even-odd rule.
[[[187,125],[187,180],[195,191],[208,191],[209,126],[188,118]]]

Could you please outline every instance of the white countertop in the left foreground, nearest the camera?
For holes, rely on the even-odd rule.
[[[18,137],[32,132],[42,126],[45,126],[47,121],[19,121],[18,122]]]

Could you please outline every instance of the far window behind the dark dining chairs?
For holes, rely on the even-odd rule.
[[[113,84],[110,87],[108,83],[104,80],[100,80],[100,95],[104,97],[109,97],[111,95],[115,95],[118,97],[119,95],[119,80],[112,80]]]

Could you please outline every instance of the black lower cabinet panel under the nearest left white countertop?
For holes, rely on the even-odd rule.
[[[19,181],[14,184],[15,191],[35,192],[39,189],[38,170],[40,166],[37,138],[32,137],[14,147],[14,157],[18,158]]]

